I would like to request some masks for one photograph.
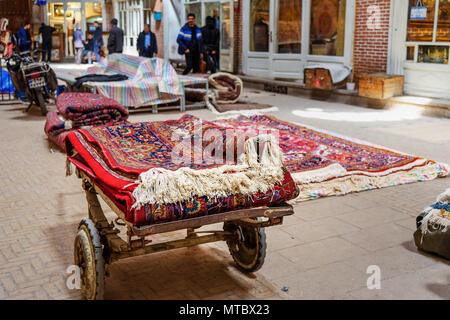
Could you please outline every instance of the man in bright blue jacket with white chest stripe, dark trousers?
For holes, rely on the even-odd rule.
[[[188,14],[188,22],[181,28],[177,37],[178,53],[186,58],[186,69],[183,74],[191,70],[199,72],[200,61],[203,59],[202,31],[195,24],[195,14]]]

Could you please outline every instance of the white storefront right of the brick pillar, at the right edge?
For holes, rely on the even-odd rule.
[[[410,95],[450,99],[450,0],[395,0],[390,72]]]

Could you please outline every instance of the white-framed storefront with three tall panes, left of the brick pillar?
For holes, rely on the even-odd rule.
[[[243,1],[243,72],[302,79],[308,62],[352,65],[355,0]]]

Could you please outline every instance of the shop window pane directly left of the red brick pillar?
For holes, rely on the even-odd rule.
[[[311,1],[311,54],[344,55],[345,7],[345,0]]]

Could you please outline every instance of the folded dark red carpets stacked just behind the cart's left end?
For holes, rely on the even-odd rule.
[[[119,103],[93,93],[61,93],[56,99],[56,108],[58,112],[47,113],[44,131],[62,149],[65,136],[71,130],[117,124],[128,119],[128,111]]]

